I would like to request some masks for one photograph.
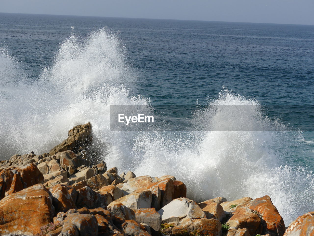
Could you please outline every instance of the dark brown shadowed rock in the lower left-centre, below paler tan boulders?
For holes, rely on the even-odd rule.
[[[78,198],[76,200],[77,207],[97,208],[101,207],[106,209],[108,204],[112,202],[110,194],[103,195],[96,193],[89,187],[80,188],[78,191]]]

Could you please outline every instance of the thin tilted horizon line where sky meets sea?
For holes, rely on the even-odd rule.
[[[164,18],[144,18],[144,17],[120,17],[120,16],[89,16],[89,15],[65,15],[65,14],[43,14],[43,13],[19,13],[19,12],[0,12],[0,14],[26,14],[26,15],[56,15],[56,16],[83,16],[83,17],[102,17],[102,18],[125,18],[125,19],[146,19],[146,20],[183,20],[184,19],[164,19]],[[252,24],[274,24],[274,25],[314,25],[314,24],[287,24],[287,23],[266,23],[266,22],[245,22],[245,21],[223,21],[223,20],[186,20],[185,21],[208,21],[208,22],[229,22],[229,23],[252,23]]]

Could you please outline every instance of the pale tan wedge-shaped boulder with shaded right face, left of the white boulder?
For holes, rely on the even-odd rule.
[[[152,193],[149,190],[145,190],[129,194],[111,202],[108,207],[116,203],[122,203],[129,208],[150,208],[152,204]]]

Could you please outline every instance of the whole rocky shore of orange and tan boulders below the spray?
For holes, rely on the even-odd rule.
[[[285,227],[269,196],[197,203],[174,176],[107,169],[91,129],[75,126],[49,153],[0,162],[0,235],[314,235],[314,211]]]

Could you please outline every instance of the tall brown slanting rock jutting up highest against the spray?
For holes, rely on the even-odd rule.
[[[73,129],[70,129],[68,132],[68,138],[51,149],[49,155],[55,155],[58,152],[67,150],[71,150],[77,154],[88,149],[93,138],[91,131],[92,126],[90,123],[73,127]]]

